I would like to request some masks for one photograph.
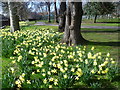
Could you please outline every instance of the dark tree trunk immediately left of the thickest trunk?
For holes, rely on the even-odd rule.
[[[63,32],[65,29],[65,11],[66,11],[66,2],[62,2],[60,4],[60,11],[59,11],[59,32]]]

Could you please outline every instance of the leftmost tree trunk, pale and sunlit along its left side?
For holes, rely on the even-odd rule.
[[[17,7],[15,6],[16,2],[9,2],[9,13],[10,13],[10,32],[20,30],[19,26],[19,16],[17,15]]]

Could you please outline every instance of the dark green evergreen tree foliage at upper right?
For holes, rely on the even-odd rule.
[[[104,15],[113,13],[114,9],[112,2],[88,2],[83,10],[87,15]]]

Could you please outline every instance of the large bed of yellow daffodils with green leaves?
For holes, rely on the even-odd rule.
[[[6,70],[3,87],[70,88],[80,81],[90,84],[89,81],[95,78],[99,81],[105,77],[110,81],[118,73],[116,61],[109,53],[95,53],[94,47],[68,47],[58,43],[61,36],[62,33],[52,29],[16,31],[13,34],[2,31],[3,41],[10,38],[11,42],[18,42],[15,45],[10,43],[14,45],[10,47],[13,54],[11,63],[18,68],[10,66]],[[98,83],[91,86],[101,87]]]

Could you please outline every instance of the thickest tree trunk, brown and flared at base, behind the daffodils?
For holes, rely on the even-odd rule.
[[[70,46],[72,44],[83,44],[86,41],[82,37],[80,30],[82,15],[82,2],[69,2],[66,14],[65,32],[62,40],[63,43]]]

